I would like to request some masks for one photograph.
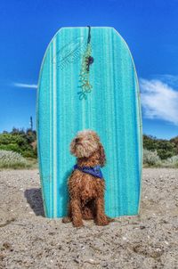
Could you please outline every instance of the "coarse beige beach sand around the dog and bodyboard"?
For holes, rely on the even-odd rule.
[[[37,170],[0,171],[0,268],[178,268],[178,169],[143,170],[139,216],[44,218]]]

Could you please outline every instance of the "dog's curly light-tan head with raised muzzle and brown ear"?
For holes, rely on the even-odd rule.
[[[106,162],[105,152],[100,137],[92,130],[84,130],[77,133],[77,136],[70,143],[70,152],[80,158],[89,158],[94,152],[100,155],[101,167]]]

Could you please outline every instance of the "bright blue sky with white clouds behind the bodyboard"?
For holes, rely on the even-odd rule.
[[[178,1],[0,2],[0,132],[36,121],[36,84],[46,46],[65,26],[111,26],[134,56],[143,133],[178,135]]]

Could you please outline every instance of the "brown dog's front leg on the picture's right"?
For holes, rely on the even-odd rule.
[[[108,225],[109,219],[108,216],[104,213],[104,199],[103,197],[96,198],[96,220],[97,225]]]

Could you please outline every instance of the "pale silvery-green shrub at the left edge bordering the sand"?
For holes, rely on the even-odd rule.
[[[28,167],[28,161],[20,153],[13,151],[0,151],[0,168]]]

